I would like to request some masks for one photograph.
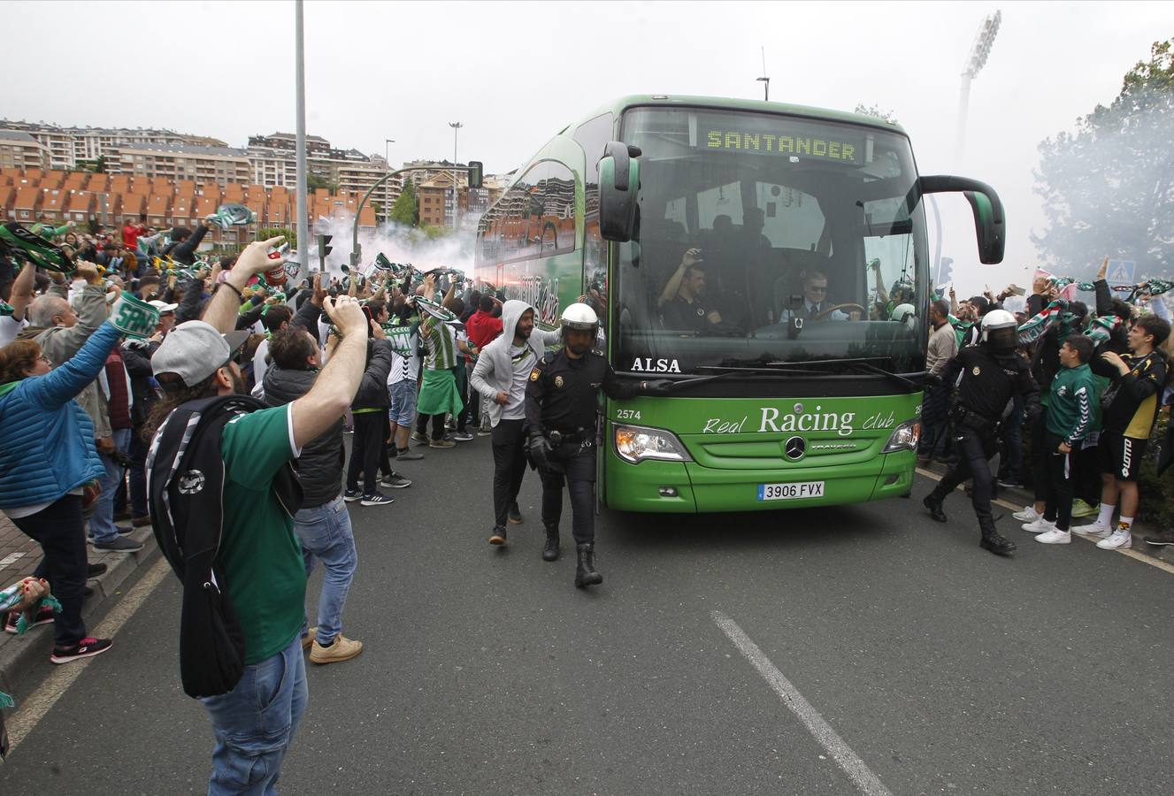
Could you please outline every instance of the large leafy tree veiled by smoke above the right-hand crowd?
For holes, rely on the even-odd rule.
[[[1035,194],[1047,227],[1032,234],[1064,276],[1091,279],[1105,256],[1133,259],[1138,278],[1174,265],[1174,40],[1126,73],[1121,93],[1039,144]]]

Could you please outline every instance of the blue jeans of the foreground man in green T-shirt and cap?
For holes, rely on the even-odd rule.
[[[295,638],[276,655],[244,667],[231,693],[200,700],[216,735],[208,795],[276,794],[285,750],[309,697],[302,640]]]

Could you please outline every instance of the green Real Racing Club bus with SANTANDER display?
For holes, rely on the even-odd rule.
[[[880,119],[747,100],[627,96],[571,124],[480,220],[479,284],[558,325],[586,296],[620,376],[598,493],[613,508],[727,512],[879,500],[912,486],[931,301],[918,176]]]

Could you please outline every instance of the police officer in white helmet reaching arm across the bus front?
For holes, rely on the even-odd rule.
[[[571,492],[572,533],[579,565],[575,586],[595,586],[603,576],[595,571],[595,412],[599,390],[610,398],[633,398],[639,392],[663,392],[673,382],[659,379],[621,382],[607,358],[593,350],[599,317],[586,304],[562,312],[562,349],[540,364],[526,384],[526,431],[529,454],[542,478],[542,525],[546,526],[544,561],[559,558],[559,518],[562,484]]]

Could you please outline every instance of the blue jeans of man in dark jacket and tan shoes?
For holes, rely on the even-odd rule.
[[[351,589],[351,579],[359,556],[355,551],[355,534],[351,532],[351,514],[342,498],[335,498],[324,506],[303,508],[294,515],[294,532],[302,542],[305,558],[305,576],[313,572],[313,562],[322,561],[326,574],[318,596],[318,643],[332,643],[343,632],[343,606]],[[304,635],[309,620],[302,626]]]

